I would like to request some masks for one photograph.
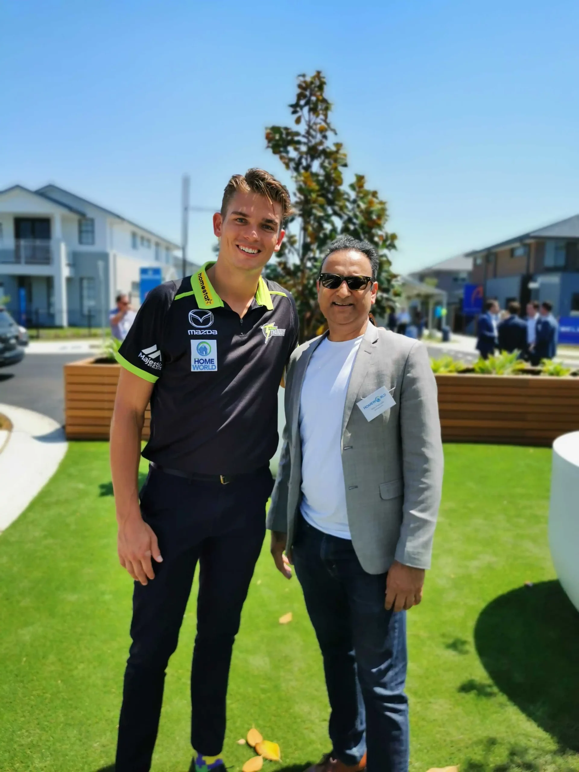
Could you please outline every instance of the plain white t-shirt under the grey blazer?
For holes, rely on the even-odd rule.
[[[310,358],[300,399],[303,518],[343,539],[350,539],[350,527],[340,448],[342,418],[362,337],[340,342],[324,338]]]

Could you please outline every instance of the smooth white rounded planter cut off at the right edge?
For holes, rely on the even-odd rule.
[[[553,443],[549,546],[561,586],[579,610],[579,432]]]

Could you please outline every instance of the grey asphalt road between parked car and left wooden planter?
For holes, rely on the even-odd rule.
[[[63,425],[63,364],[80,358],[79,354],[26,354],[19,364],[0,368],[0,402],[36,410]]]

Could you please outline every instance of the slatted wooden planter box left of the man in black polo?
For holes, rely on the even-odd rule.
[[[64,417],[67,439],[108,439],[120,365],[96,364],[95,357],[64,366]],[[149,436],[147,408],[143,438]]]

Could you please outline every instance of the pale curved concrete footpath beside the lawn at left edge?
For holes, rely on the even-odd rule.
[[[12,422],[12,432],[0,438],[2,533],[56,472],[68,444],[63,428],[47,415],[2,403],[0,413]]]

